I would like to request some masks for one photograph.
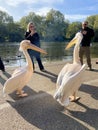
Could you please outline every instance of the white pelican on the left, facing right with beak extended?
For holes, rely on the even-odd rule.
[[[32,49],[41,53],[46,54],[44,50],[42,50],[39,47],[36,47],[35,45],[32,45],[29,40],[23,40],[20,43],[19,50],[23,52],[26,58],[27,65],[25,67],[21,67],[19,69],[16,69],[12,76],[5,82],[3,87],[3,93],[4,94],[10,94],[14,91],[17,91],[20,97],[27,96],[27,93],[24,93],[22,91],[22,88],[27,85],[29,80],[32,77],[33,74],[33,66],[31,58],[27,52],[27,49]]]

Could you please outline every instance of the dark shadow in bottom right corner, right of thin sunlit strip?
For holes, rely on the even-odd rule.
[[[90,126],[94,127],[95,130],[98,129],[98,109],[93,109],[93,108],[89,108],[88,106],[80,103],[80,102],[76,102],[79,106],[83,107],[85,109],[85,112],[83,111],[72,111],[69,110],[69,112],[71,113],[72,116],[74,116],[75,118],[89,124]]]

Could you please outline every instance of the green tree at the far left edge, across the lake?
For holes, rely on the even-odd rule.
[[[12,16],[0,11],[0,42],[18,42],[23,39],[23,29]]]

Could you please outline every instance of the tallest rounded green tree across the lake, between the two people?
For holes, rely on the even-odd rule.
[[[65,39],[67,24],[62,13],[51,9],[46,15],[45,24],[46,40],[60,41]]]

